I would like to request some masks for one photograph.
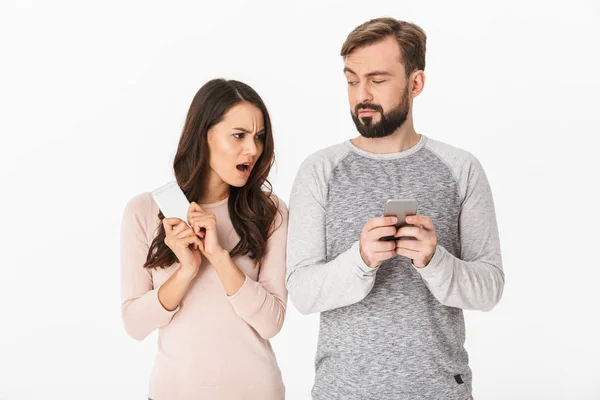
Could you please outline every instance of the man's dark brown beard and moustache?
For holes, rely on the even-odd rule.
[[[381,119],[379,122],[373,123],[373,117],[360,118],[358,111],[361,109],[377,111],[381,115]],[[406,122],[408,111],[408,88],[406,88],[400,104],[385,114],[380,105],[371,103],[357,104],[354,112],[350,114],[352,114],[352,120],[356,125],[356,129],[362,136],[366,138],[382,138],[391,135]]]

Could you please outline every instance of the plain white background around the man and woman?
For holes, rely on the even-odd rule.
[[[172,179],[207,80],[245,81],[274,121],[272,182],[356,135],[339,49],[393,16],[428,34],[420,133],[488,174],[506,289],[467,312],[477,399],[600,399],[596,1],[80,2],[0,6],[0,399],[141,399],[156,334],[120,320],[126,201]],[[315,112],[316,110],[316,112]],[[273,340],[308,399],[318,317]]]

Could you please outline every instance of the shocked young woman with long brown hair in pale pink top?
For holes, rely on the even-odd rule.
[[[127,204],[122,315],[135,339],[158,329],[153,400],[284,398],[269,343],[287,303],[287,209],[267,180],[273,147],[260,96],[212,80],[175,155],[187,221],[164,218],[149,193]]]

